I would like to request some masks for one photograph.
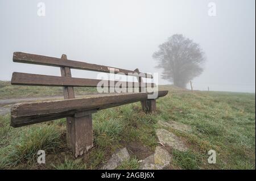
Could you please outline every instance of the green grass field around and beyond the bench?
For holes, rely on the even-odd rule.
[[[158,120],[177,121],[192,127],[191,133],[175,130],[189,150],[169,150],[169,169],[255,169],[255,94],[186,91],[172,86],[156,100],[157,112],[145,114],[140,103],[109,108],[93,115],[94,148],[73,158],[65,141],[65,120],[12,128],[10,114],[0,117],[1,169],[99,169],[110,155],[125,146],[130,161],[118,169],[138,169],[139,160],[158,145]],[[21,91],[22,90],[22,91]],[[61,95],[61,88],[10,86],[1,82],[0,98]],[[78,90],[93,92],[92,89]],[[46,164],[36,162],[37,151],[46,150]],[[216,150],[216,164],[208,151]]]

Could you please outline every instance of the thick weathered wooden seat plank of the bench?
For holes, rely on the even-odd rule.
[[[158,97],[168,91],[159,91]],[[146,100],[150,93],[121,93],[110,95],[92,95],[87,98],[55,100],[47,102],[20,103],[11,108],[11,126],[40,123],[75,115],[77,112],[101,110]]]

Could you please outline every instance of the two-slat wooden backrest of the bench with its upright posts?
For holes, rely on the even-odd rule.
[[[63,54],[61,58],[41,56],[37,54],[28,54],[22,52],[14,52],[13,61],[26,63],[26,64],[37,64],[37,65],[47,65],[47,66],[57,66],[61,69],[61,77],[52,75],[39,75],[39,74],[28,74],[14,72],[11,85],[30,85],[30,86],[64,86],[68,87],[97,87],[98,83],[102,80],[100,79],[89,79],[89,78],[74,78],[71,76],[70,69],[80,69],[80,70],[90,70],[90,71],[100,71],[104,73],[122,73],[125,75],[132,75],[138,78],[138,82],[119,82],[120,85],[126,85],[126,87],[139,87],[141,92],[141,87],[155,87],[154,83],[143,83],[141,77],[153,78],[151,74],[141,73],[138,69],[126,70],[112,68],[103,65],[88,64],[81,61],[68,60],[67,56]],[[104,85],[108,87],[114,86],[117,81],[103,81]],[[68,92],[68,91],[67,91]],[[67,98],[75,98],[75,96],[68,96]]]

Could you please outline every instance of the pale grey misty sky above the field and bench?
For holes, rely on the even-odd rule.
[[[39,2],[46,16],[38,16]],[[216,16],[208,15],[209,2],[216,3]],[[60,75],[59,68],[14,63],[16,51],[160,73],[152,54],[174,33],[207,55],[195,89],[255,92],[254,0],[0,0],[0,79],[10,80],[13,71]],[[167,83],[159,74],[159,84]]]

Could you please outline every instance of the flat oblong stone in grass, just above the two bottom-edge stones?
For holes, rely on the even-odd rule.
[[[167,131],[166,129],[156,129],[156,136],[161,143],[170,146],[171,148],[177,149],[179,151],[186,151],[188,149],[179,137],[177,137],[174,133]]]

